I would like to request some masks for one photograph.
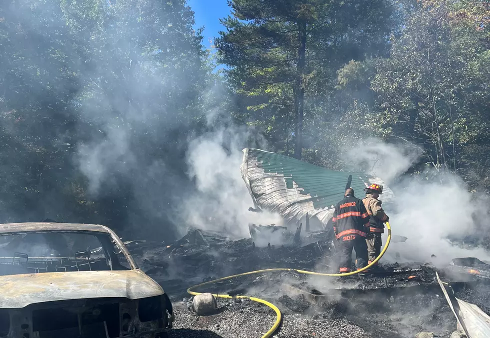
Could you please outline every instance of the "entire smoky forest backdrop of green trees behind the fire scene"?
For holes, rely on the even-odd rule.
[[[206,49],[185,0],[2,1],[0,222],[172,239],[245,146],[365,170],[345,154],[380,139],[490,192],[488,1],[228,4]]]

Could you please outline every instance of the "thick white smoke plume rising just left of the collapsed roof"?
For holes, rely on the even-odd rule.
[[[252,199],[241,178],[244,140],[238,128],[211,132],[190,143],[189,176],[197,193],[185,200],[184,222],[197,228],[226,231],[231,238],[248,238],[248,223],[279,224],[277,214],[248,211]]]

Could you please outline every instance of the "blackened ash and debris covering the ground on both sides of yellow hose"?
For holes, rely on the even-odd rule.
[[[268,308],[247,300],[218,300],[217,314],[199,317],[187,311],[186,289],[261,269],[336,272],[330,231],[301,234],[301,226],[289,232],[273,225],[250,225],[249,229],[251,238],[240,240],[229,240],[225,233],[189,229],[171,245],[127,243],[139,267],[174,302],[175,328],[197,327],[203,330],[199,337],[209,332],[215,334],[209,337],[261,337],[275,319]],[[274,243],[274,238],[283,244]],[[456,318],[436,273],[449,283],[452,297],[490,314],[490,265],[476,258],[455,258],[438,269],[430,262],[382,264],[376,273],[342,278],[293,270],[254,274],[198,291],[247,295],[275,304],[284,317],[274,337],[464,337],[457,332]]]

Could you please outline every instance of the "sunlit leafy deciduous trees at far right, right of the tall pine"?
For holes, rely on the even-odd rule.
[[[476,7],[469,1],[422,1],[391,39],[389,57],[345,65],[338,88],[350,91],[348,114],[364,119],[360,129],[421,145],[422,163],[457,171],[470,185],[488,189],[482,170],[487,157],[470,155],[486,146],[490,117],[488,16]],[[369,87],[362,103],[352,86]]]

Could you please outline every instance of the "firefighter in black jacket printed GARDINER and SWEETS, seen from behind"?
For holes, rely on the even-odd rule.
[[[345,190],[344,199],[337,203],[332,218],[333,231],[338,241],[339,272],[350,272],[352,249],[357,270],[367,265],[366,236],[369,215],[362,200],[354,197],[354,190]]]

